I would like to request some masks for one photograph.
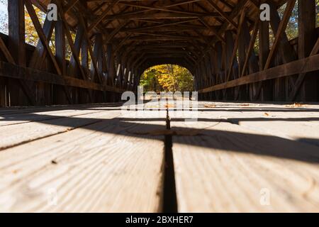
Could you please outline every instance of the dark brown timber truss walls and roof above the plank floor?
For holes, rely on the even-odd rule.
[[[50,3],[58,19],[41,24],[33,6],[46,11]],[[270,21],[259,19],[263,3]],[[296,4],[10,0],[9,35],[0,37],[0,105],[118,101],[122,92],[136,91],[144,70],[162,63],[188,68],[201,99],[318,101],[315,0],[298,1],[298,38],[289,40],[286,26]],[[38,33],[35,47],[26,45],[25,9]]]

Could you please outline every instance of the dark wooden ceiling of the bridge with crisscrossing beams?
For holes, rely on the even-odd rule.
[[[281,5],[285,1],[273,2]],[[50,1],[33,3],[45,9]],[[64,1],[66,18],[74,31],[83,17],[92,39],[102,33],[104,43],[112,43],[117,55],[143,55],[151,65],[163,57],[168,62],[196,64],[214,43],[224,42],[225,31],[236,34],[242,9],[252,28],[258,8],[259,0]]]

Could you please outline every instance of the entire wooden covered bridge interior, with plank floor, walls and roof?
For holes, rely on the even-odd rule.
[[[0,211],[319,211],[317,4],[10,0]],[[196,123],[121,115],[159,64],[194,75]]]

